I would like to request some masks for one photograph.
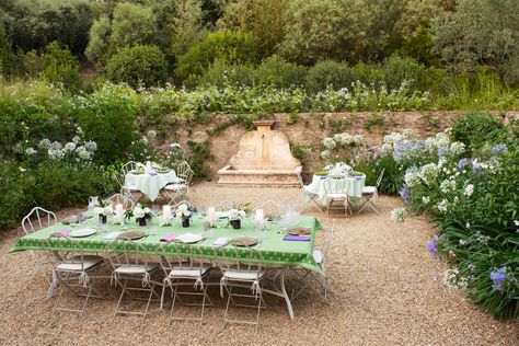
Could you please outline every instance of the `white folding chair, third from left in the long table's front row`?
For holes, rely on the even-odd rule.
[[[162,295],[160,308],[164,305],[165,288],[169,287],[172,293],[172,303],[170,310],[170,319],[183,321],[198,321],[199,324],[204,322],[204,310],[206,308],[206,300],[209,305],[214,305],[211,299],[207,295],[207,279],[211,270],[211,265],[204,261],[204,255],[200,247],[193,244],[183,243],[180,240],[173,240],[163,244],[159,249],[161,267],[164,272],[164,280],[162,286]],[[193,287],[193,290],[181,290],[181,287]],[[197,291],[197,290],[200,291]],[[201,303],[187,302],[182,297],[201,296]],[[201,307],[198,318],[181,318],[173,315],[175,302],[182,305]]]

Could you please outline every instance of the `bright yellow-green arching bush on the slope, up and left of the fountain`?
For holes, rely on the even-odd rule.
[[[178,57],[178,67],[175,73],[182,79],[200,76],[215,60],[229,64],[254,61],[252,36],[230,31],[211,33],[204,41],[191,47],[185,55]]]

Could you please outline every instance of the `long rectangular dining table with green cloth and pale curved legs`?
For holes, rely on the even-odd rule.
[[[85,212],[88,216],[89,212]],[[78,229],[93,229],[95,232],[89,237],[71,238],[74,241],[74,251],[85,253],[97,253],[103,254],[108,242],[113,241],[112,234],[114,232],[127,231],[127,230],[139,230],[145,232],[145,237],[139,242],[146,252],[150,255],[168,255],[162,253],[163,240],[166,235],[175,234],[178,237],[184,233],[199,234],[201,240],[194,244],[199,247],[203,253],[204,260],[218,264],[219,261],[226,258],[217,258],[215,255],[215,249],[217,240],[221,238],[233,239],[241,235],[257,237],[258,243],[254,245],[254,249],[261,253],[263,266],[275,270],[275,278],[277,282],[273,282],[272,289],[263,289],[264,292],[272,293],[285,299],[288,308],[288,313],[291,319],[295,318],[290,297],[287,293],[285,286],[285,274],[290,268],[305,268],[316,273],[320,273],[320,266],[316,264],[313,257],[313,250],[315,243],[315,232],[321,229],[319,221],[312,216],[301,216],[297,224],[290,227],[308,228],[310,232],[310,239],[308,241],[287,241],[284,240],[286,229],[290,228],[286,224],[281,224],[280,221],[268,222],[266,230],[255,230],[254,222],[250,218],[242,220],[241,229],[233,229],[229,226],[227,219],[221,219],[216,222],[214,228],[209,231],[204,230],[204,216],[195,214],[191,218],[191,226],[188,228],[182,227],[182,222],[175,219],[171,226],[160,226],[159,218],[153,218],[146,227],[139,227],[135,220],[129,220],[127,224],[122,227],[120,224],[113,224],[108,219],[108,223],[100,224],[96,217],[86,219],[79,224],[64,224],[56,223],[44,228],[37,232],[24,235],[18,240],[12,247],[11,252],[20,251],[59,251],[62,250],[58,242],[62,241],[60,238],[53,237],[57,232],[62,230],[78,230]],[[88,232],[86,232],[88,233]],[[53,249],[53,244],[56,244],[56,249]],[[187,255],[186,246],[186,255]],[[240,253],[240,252],[239,252]],[[240,255],[239,255],[240,256]],[[257,258],[250,258],[249,253],[243,250],[243,261],[260,261]]]

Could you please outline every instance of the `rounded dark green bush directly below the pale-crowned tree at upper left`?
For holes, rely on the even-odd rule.
[[[161,85],[165,74],[165,57],[157,46],[125,47],[106,65],[106,77],[111,81],[132,88]]]

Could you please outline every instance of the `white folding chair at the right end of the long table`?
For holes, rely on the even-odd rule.
[[[334,228],[335,228],[335,220],[332,222],[332,226],[326,229],[326,233],[324,234],[324,240],[323,240],[323,244],[321,249],[320,250],[314,249],[312,252],[313,261],[315,261],[315,264],[321,269],[321,273],[316,274],[312,270],[304,269],[304,275],[301,276],[301,280],[303,281],[303,285],[301,285],[297,291],[292,290],[290,300],[296,299],[307,287],[310,287],[312,290],[318,292],[326,303],[328,302],[325,264],[326,264],[327,253],[333,242]],[[316,289],[315,287],[313,287],[310,280],[315,281],[320,286],[320,289]]]

